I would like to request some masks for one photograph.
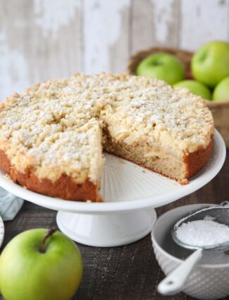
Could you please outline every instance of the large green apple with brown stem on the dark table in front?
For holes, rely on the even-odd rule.
[[[81,277],[80,251],[56,229],[18,234],[0,256],[0,290],[5,300],[69,300]]]

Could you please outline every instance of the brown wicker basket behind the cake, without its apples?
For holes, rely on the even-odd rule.
[[[129,59],[128,72],[130,74],[135,74],[135,70],[138,64],[140,64],[140,61],[142,61],[142,59],[149,56],[150,54],[158,52],[166,52],[178,57],[178,59],[180,59],[180,61],[182,61],[182,63],[185,65],[187,78],[192,78],[192,73],[190,70],[192,52],[173,48],[154,47],[148,50],[137,52],[136,54],[132,55]],[[206,104],[209,107],[209,109],[211,109],[216,128],[223,136],[227,148],[229,148],[229,101],[206,101]]]

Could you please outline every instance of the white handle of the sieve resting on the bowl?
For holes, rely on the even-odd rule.
[[[177,294],[182,291],[185,285],[187,277],[194,266],[202,258],[202,248],[194,251],[178,268],[173,270],[165,279],[163,279],[158,287],[157,291],[163,295]]]

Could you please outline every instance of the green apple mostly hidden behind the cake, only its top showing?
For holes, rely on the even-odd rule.
[[[174,88],[187,88],[192,94],[201,96],[203,99],[211,99],[211,91],[205,85],[196,80],[182,80],[180,83],[175,83]]]

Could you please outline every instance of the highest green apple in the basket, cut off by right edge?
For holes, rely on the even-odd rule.
[[[213,88],[229,76],[229,43],[209,42],[192,56],[194,78]]]

